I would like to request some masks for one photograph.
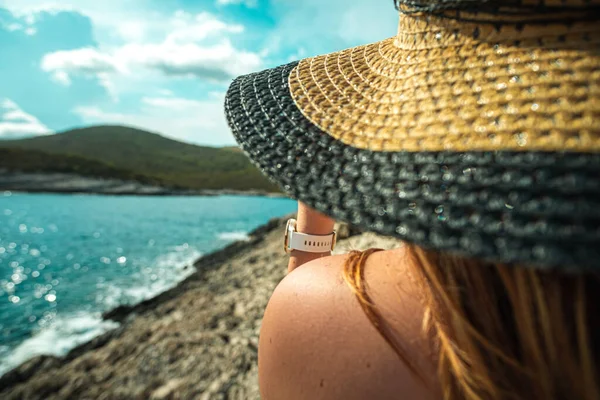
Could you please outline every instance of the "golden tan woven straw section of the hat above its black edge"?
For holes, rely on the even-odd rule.
[[[362,149],[600,151],[599,24],[400,27],[302,61],[290,84],[304,115]]]

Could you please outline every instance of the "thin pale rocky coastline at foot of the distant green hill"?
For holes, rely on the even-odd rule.
[[[287,197],[261,190],[191,190],[156,186],[136,181],[105,179],[71,173],[14,172],[0,169],[0,192],[95,194],[107,196],[261,196]]]

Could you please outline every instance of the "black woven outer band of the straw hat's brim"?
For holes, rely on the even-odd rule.
[[[359,149],[303,115],[289,89],[296,66],[240,77],[226,97],[241,147],[290,196],[428,248],[546,268],[597,268],[600,156]]]

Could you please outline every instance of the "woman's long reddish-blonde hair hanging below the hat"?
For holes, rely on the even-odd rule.
[[[535,270],[407,246],[445,400],[600,399],[597,274]],[[421,376],[369,296],[364,263],[375,251],[352,252],[344,278],[371,322]]]

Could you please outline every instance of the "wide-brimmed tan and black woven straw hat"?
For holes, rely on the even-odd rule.
[[[600,0],[397,3],[395,37],[236,79],[226,114],[242,148],[335,218],[599,269]]]

